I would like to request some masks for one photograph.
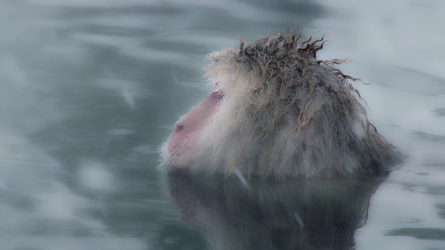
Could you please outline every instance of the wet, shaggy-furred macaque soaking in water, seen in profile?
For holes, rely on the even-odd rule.
[[[366,115],[360,80],[318,60],[323,38],[293,30],[209,56],[211,93],[163,144],[172,168],[243,176],[357,176],[389,172],[403,157]]]

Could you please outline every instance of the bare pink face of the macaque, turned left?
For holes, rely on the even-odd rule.
[[[175,124],[175,132],[167,142],[167,162],[172,167],[188,167],[191,159],[184,161],[184,155],[195,149],[199,131],[207,125],[218,110],[223,94],[211,92],[209,97],[197,104]]]

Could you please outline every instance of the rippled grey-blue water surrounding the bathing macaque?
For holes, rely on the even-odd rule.
[[[439,0],[0,1],[0,248],[246,249],[273,235],[286,249],[274,205],[304,235],[303,207],[332,212],[305,197],[339,197],[346,247],[443,249],[444,23]],[[325,34],[321,59],[353,60],[341,70],[371,83],[354,85],[407,163],[380,186],[161,174],[157,147],[207,94],[205,56],[296,24]]]

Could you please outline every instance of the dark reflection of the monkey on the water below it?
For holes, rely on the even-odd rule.
[[[351,249],[384,177],[288,179],[202,176],[174,170],[181,220],[207,229],[213,249]]]

